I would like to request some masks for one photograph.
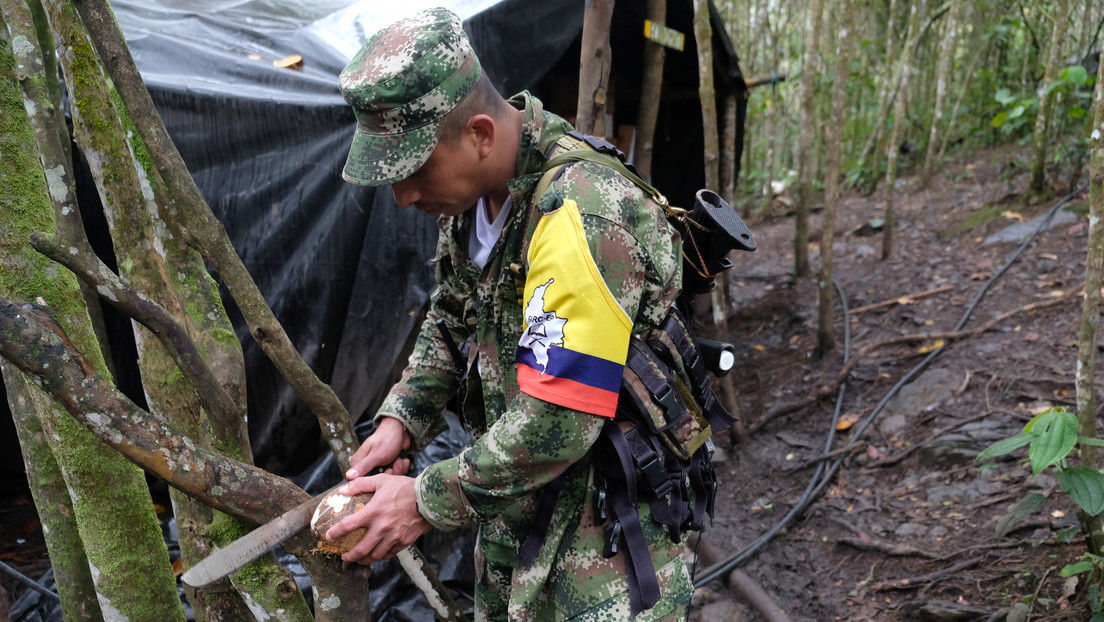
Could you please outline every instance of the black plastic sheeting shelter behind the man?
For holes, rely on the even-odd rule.
[[[503,94],[529,89],[549,109],[573,112],[581,0],[434,3],[465,18],[485,70]],[[399,209],[390,189],[342,181],[354,119],[337,75],[375,30],[422,4],[428,2],[113,2],[200,189],[291,341],[354,418],[370,414],[382,399],[420,319],[433,286],[437,228],[416,210]],[[611,43],[617,125],[635,123],[643,22],[643,0],[616,3]],[[689,1],[668,2],[668,25],[687,41],[683,52],[667,53],[652,181],[675,204],[689,205],[703,179]],[[739,95],[742,128],[746,89],[715,11],[713,30],[718,95]],[[290,54],[302,56],[300,68],[274,65]],[[298,473],[326,451],[317,420],[248,336],[236,308],[229,310],[245,349],[256,463]],[[117,321],[119,338],[129,338],[126,321]],[[116,348],[120,369],[134,368],[125,360],[128,347]],[[140,400],[136,377],[121,378],[120,386]]]

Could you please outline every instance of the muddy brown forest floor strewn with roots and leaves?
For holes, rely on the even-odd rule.
[[[1015,151],[976,154],[947,165],[926,189],[904,179],[895,249],[885,261],[881,232],[870,225],[883,215],[882,189],[866,197],[846,193],[835,262],[850,310],[850,357],[857,358],[840,412],[853,423],[837,432],[828,452],[841,458],[835,475],[740,566],[745,581],[761,587],[789,619],[1089,619],[1083,583],[1059,576],[1084,546],[1075,537],[1062,542],[1076,519],[1055,479],[1030,477],[1018,460],[1022,450],[987,467],[974,461],[1041,409],[1074,404],[1085,196],[1071,201],[1075,213],[1062,214],[992,284],[962,331],[1027,305],[1038,308],[998,319],[985,333],[944,339],[942,352],[875,412],[933,341],[873,346],[953,331],[1022,240],[987,239],[1029,223],[1068,192],[1059,185],[1050,198],[1027,201],[1025,161]],[[816,286],[813,278],[792,277],[794,225],[785,201],[774,202],[774,218],[751,222],[758,251],[735,257],[732,271],[728,326],[737,363],[731,379],[744,434],[718,437],[721,489],[699,577],[789,513],[822,462],[832,428],[835,392],[766,419],[832,386],[845,356],[837,305],[839,347],[814,357]],[[816,267],[819,212],[810,231]],[[1045,495],[1049,505],[1006,521],[998,536],[998,524],[1028,493]],[[2,498],[0,560],[38,578],[49,561],[36,521],[26,518],[28,512],[33,516],[30,498],[18,492]],[[768,620],[728,586],[728,576],[699,589],[691,619]],[[3,573],[0,587],[12,600],[26,591]]]

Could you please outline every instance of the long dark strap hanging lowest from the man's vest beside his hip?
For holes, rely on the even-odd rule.
[[[651,551],[644,537],[640,515],[636,509],[636,470],[633,467],[633,454],[620,426],[613,420],[606,421],[606,436],[614,446],[617,461],[625,473],[625,488],[614,488],[609,494],[609,505],[614,516],[622,525],[625,538],[625,570],[628,578],[629,618],[636,618],[645,609],[651,609],[659,602],[659,579],[656,567],[651,563]]]

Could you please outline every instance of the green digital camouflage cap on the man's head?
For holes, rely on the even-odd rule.
[[[341,71],[357,133],[341,173],[383,186],[410,177],[437,145],[437,128],[482,75],[460,18],[422,11],[372,35]]]

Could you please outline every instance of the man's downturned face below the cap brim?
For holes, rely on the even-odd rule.
[[[391,185],[395,202],[414,205],[429,215],[459,215],[475,204],[482,192],[476,185],[475,157],[470,145],[438,143],[429,159],[414,175]]]

